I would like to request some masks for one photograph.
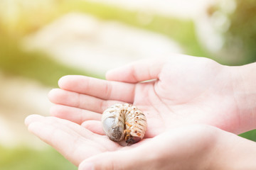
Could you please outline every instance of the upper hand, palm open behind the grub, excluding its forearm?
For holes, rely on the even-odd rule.
[[[133,103],[148,120],[145,137],[180,125],[203,123],[240,133],[249,117],[233,96],[232,69],[203,57],[142,60],[107,72],[107,81],[67,76],[50,91],[51,115],[103,134],[101,113],[114,103]],[[142,82],[150,79],[154,81]]]

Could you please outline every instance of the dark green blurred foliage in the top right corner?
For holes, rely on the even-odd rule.
[[[236,3],[237,8],[230,16],[230,28],[225,33],[226,45],[240,49],[244,60],[239,64],[247,64],[256,61],[256,2],[236,0]]]

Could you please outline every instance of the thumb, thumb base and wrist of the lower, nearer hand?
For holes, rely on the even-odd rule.
[[[89,169],[256,169],[256,143],[208,125],[167,130],[137,147],[85,159]]]

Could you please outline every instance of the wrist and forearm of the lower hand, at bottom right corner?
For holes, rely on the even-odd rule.
[[[209,170],[256,169],[255,155],[255,142],[223,132],[210,153]]]

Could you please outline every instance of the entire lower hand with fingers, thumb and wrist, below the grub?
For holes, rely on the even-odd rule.
[[[83,169],[255,169],[255,142],[208,125],[166,130],[122,147],[76,123],[30,115],[28,130]],[[82,162],[82,163],[81,163]]]

